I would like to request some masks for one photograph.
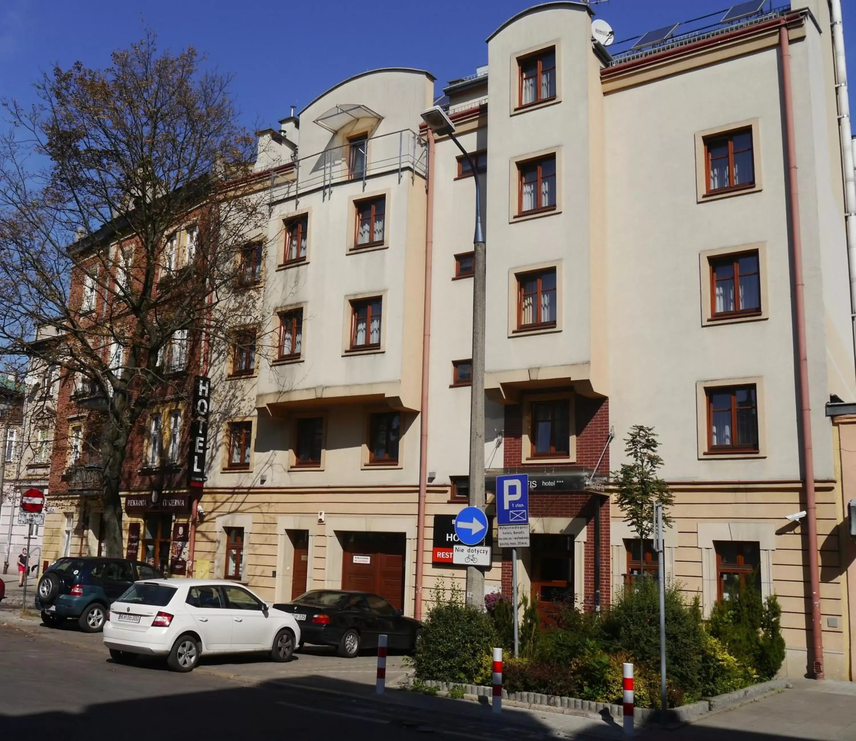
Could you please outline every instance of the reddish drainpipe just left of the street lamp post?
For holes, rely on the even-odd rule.
[[[434,248],[434,132],[428,127],[428,199],[425,206],[425,303],[422,318],[422,401],[419,407],[419,505],[416,513],[416,599],[413,617],[422,619],[425,578],[425,500],[428,495],[428,371],[431,353],[431,252]]]

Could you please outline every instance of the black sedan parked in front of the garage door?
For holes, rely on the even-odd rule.
[[[377,637],[387,635],[389,649],[413,650],[422,624],[406,618],[382,596],[346,590],[312,590],[293,602],[274,605],[294,614],[300,643],[336,646],[348,659],[360,649],[377,649]]]

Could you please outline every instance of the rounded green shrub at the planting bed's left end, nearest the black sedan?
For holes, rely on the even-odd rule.
[[[496,646],[493,620],[482,610],[465,605],[461,591],[449,597],[443,584],[433,592],[434,606],[422,626],[413,656],[415,676],[443,682],[479,683]],[[490,669],[487,670],[490,678]]]

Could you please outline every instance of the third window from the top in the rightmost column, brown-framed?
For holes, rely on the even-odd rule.
[[[707,452],[758,453],[758,399],[754,384],[708,388]]]

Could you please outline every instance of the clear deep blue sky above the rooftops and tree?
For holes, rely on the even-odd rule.
[[[735,0],[736,2],[736,0]],[[777,7],[786,0],[773,0]],[[0,98],[33,98],[32,82],[54,62],[104,67],[110,51],[140,39],[144,27],[162,46],[193,44],[208,63],[235,75],[248,127],[275,125],[319,92],[378,67],[425,68],[447,80],[487,61],[484,39],[535,0],[0,0]],[[617,39],[669,22],[726,9],[730,0],[607,0],[595,6]],[[846,0],[851,88],[856,90],[856,12]],[[794,7],[799,7],[794,0]],[[851,6],[848,8],[847,6]],[[371,9],[365,13],[363,8]],[[849,12],[848,12],[849,11]]]

